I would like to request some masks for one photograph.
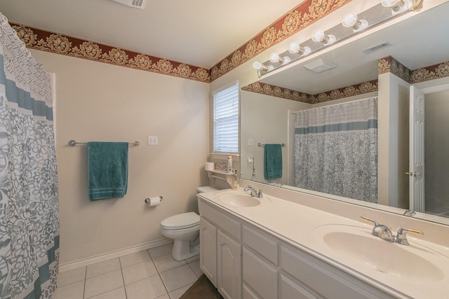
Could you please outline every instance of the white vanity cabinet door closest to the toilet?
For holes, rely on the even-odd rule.
[[[201,271],[217,287],[217,228],[202,217],[199,223],[199,250]]]

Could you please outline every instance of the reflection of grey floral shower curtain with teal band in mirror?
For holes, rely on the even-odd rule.
[[[377,202],[377,97],[297,113],[295,186]]]

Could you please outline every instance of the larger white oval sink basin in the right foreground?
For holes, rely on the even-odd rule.
[[[388,242],[374,237],[366,228],[351,225],[322,225],[314,235],[337,256],[392,277],[416,282],[444,278],[437,265],[422,257],[436,254],[424,247]]]

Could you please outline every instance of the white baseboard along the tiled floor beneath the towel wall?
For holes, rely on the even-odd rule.
[[[61,273],[61,272],[69,271],[69,270],[74,270],[79,267],[86,267],[87,265],[99,263],[104,260],[110,260],[112,258],[119,258],[121,256],[126,256],[130,253],[136,253],[139,251],[152,249],[154,247],[169,244],[171,242],[173,242],[173,239],[163,238],[163,239],[158,239],[156,241],[147,242],[147,243],[143,243],[143,244],[139,244],[139,245],[135,245],[135,246],[130,246],[130,247],[123,248],[123,249],[109,251],[107,253],[98,254],[97,256],[81,258],[79,260],[74,260],[73,262],[62,263],[59,265],[58,272]]]

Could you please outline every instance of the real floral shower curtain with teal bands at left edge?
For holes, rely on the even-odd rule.
[[[51,298],[59,250],[51,81],[0,13],[0,298]]]

